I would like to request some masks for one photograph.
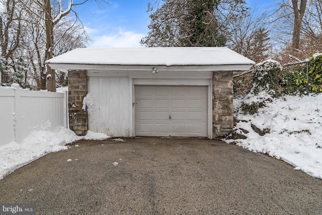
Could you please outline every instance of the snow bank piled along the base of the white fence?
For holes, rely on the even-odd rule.
[[[92,131],[88,131],[86,136],[77,136],[65,127],[60,127],[58,132],[47,129],[32,131],[21,144],[13,141],[0,147],[0,179],[50,152],[68,149],[65,145],[73,141],[106,138],[109,138],[109,136]]]

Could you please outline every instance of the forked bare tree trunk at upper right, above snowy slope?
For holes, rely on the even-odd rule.
[[[300,8],[298,9],[297,2],[300,2]],[[302,28],[302,19],[304,16],[307,0],[292,0],[294,11],[294,28],[292,38],[292,48],[298,50],[300,47],[300,33]]]

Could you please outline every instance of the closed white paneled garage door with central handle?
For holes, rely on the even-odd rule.
[[[207,87],[135,86],[136,136],[207,136]]]

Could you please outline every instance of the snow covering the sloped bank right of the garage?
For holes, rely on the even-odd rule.
[[[295,170],[322,179],[322,94],[273,99],[254,115],[237,111],[241,102],[243,99],[234,100],[235,117],[243,120],[235,127],[250,131],[245,134],[238,130],[248,138],[224,141],[282,159]],[[260,136],[251,128],[251,123],[270,131]]]

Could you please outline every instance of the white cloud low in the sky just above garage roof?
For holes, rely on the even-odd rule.
[[[103,34],[100,36],[92,36],[93,43],[91,47],[140,47],[140,40],[144,34],[135,33],[133,31],[119,30],[112,34]]]

